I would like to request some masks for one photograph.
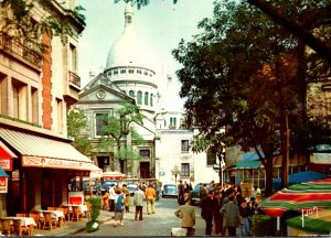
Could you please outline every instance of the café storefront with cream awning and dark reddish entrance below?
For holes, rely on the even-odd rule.
[[[9,216],[66,203],[70,181],[92,171],[93,162],[65,139],[0,128],[0,151],[11,155],[2,201]]]

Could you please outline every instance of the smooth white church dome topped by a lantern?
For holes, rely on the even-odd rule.
[[[153,58],[148,45],[135,32],[132,17],[134,10],[129,2],[125,10],[124,33],[117,39],[108,53],[106,71],[121,66],[154,69]]]

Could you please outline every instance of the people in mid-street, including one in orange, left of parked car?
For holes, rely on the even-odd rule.
[[[135,210],[135,219],[142,220],[142,208],[147,203],[147,212],[148,215],[154,214],[154,201],[156,201],[156,188],[152,183],[146,184],[141,183],[138,185],[137,191],[135,191],[135,195],[132,197],[132,203],[136,208]],[[106,190],[102,194],[102,209],[109,209],[109,212],[114,212],[114,218],[116,227],[117,225],[124,225],[124,213],[129,213],[131,196],[130,191],[128,190],[126,184],[122,186],[113,184],[109,187],[109,191]],[[119,221],[119,223],[117,223]]]

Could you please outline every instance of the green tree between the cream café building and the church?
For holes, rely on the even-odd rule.
[[[82,109],[71,109],[67,115],[67,136],[74,139],[73,147],[90,156],[93,144],[88,139],[87,118]]]

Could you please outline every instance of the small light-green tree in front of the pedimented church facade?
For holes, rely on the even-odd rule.
[[[138,134],[131,123],[142,125],[143,116],[139,111],[139,107],[132,104],[122,102],[121,108],[115,115],[100,116],[103,121],[102,147],[108,149],[116,147],[115,159],[120,162],[120,170],[124,173],[128,171],[128,159],[137,159],[137,153],[132,147],[128,147],[128,136],[137,144],[142,142],[142,138]],[[125,139],[125,143],[122,140]],[[122,148],[122,144],[125,145]]]

